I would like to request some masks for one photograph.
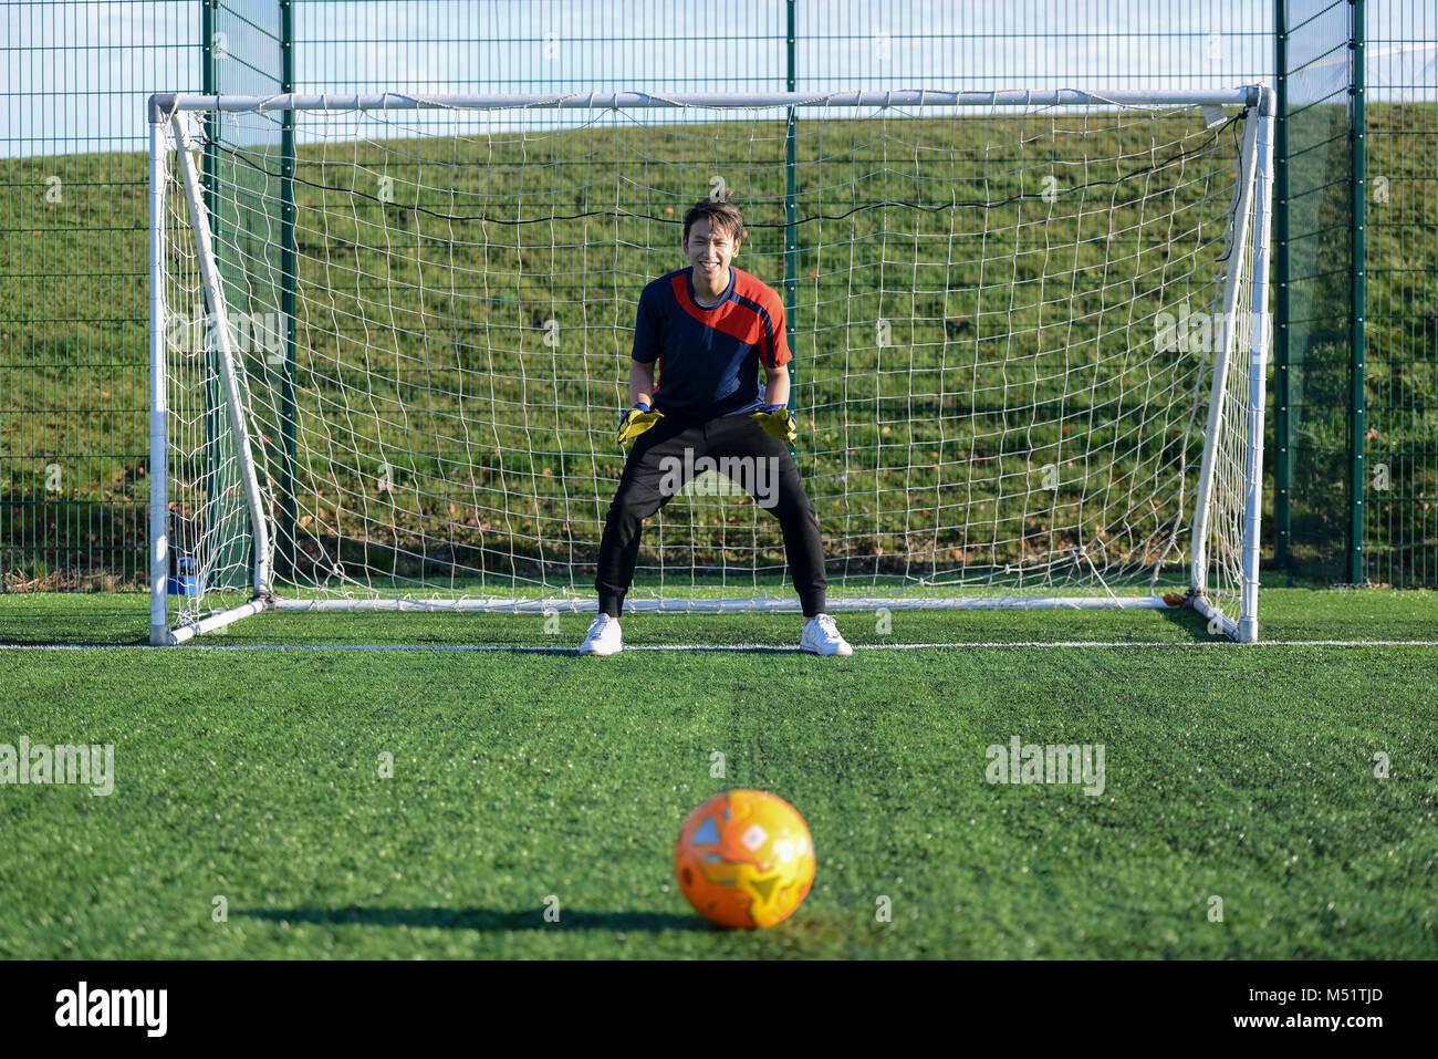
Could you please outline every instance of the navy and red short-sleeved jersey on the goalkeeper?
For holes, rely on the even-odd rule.
[[[634,360],[657,361],[654,407],[693,419],[736,416],[764,407],[759,361],[789,363],[784,302],[761,279],[729,266],[718,305],[695,301],[693,268],[644,286],[634,322]]]

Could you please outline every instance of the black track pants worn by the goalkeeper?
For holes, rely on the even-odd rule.
[[[624,594],[634,581],[643,519],[669,504],[705,456],[715,462],[715,471],[738,482],[759,506],[779,519],[784,551],[804,616],[821,613],[828,580],[824,577],[824,545],[814,505],[804,492],[788,446],[748,414],[709,420],[666,414],[634,440],[604,519],[600,570],[594,578],[600,613],[620,616]],[[697,469],[705,468],[700,465]]]

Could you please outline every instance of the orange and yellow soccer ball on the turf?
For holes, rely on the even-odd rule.
[[[804,817],[762,790],[729,790],[699,806],[674,843],[679,889],[720,927],[772,927],[814,885],[814,842]]]

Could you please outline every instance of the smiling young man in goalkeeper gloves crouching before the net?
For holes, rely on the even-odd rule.
[[[684,214],[683,249],[690,266],[660,276],[640,295],[630,361],[633,407],[620,420],[618,436],[620,445],[634,439],[634,447],[604,519],[594,580],[600,616],[581,655],[623,650],[620,612],[634,580],[641,522],[683,488],[705,456],[779,519],[794,587],[808,619],[800,649],[853,653],[824,613],[828,581],[818,519],[785,445],[794,440],[795,429],[785,407],[789,348],[784,302],[731,265],[742,239],[738,209],[697,203]],[[761,364],[765,386],[759,384]]]

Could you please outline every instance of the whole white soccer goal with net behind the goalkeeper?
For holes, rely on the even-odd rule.
[[[787,292],[830,610],[1186,606],[1257,639],[1267,88],[148,106],[155,645],[597,609],[638,294],[705,197]],[[710,463],[626,607],[798,610]]]

